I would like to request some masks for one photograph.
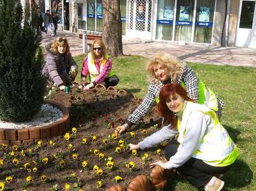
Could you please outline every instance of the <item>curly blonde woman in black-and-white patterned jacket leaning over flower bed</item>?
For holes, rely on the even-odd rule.
[[[159,52],[153,56],[147,66],[149,87],[148,93],[141,105],[128,117],[123,125],[116,127],[115,133],[123,133],[128,127],[138,123],[149,112],[153,105],[159,102],[159,92],[164,84],[178,82],[187,91],[189,98],[199,104],[204,104],[221,116],[224,102],[214,94],[202,81],[199,81],[194,71],[168,53]]]

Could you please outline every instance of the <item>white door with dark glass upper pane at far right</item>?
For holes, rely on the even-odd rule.
[[[255,1],[240,1],[240,19],[237,27],[235,45],[249,47],[255,15]]]

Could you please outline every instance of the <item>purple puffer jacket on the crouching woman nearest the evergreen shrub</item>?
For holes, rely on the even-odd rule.
[[[70,69],[75,68],[77,70],[77,63],[73,60],[70,52],[53,55],[49,47],[46,48],[46,51],[42,74],[57,86],[60,86],[60,84],[69,84],[72,80],[69,76]]]

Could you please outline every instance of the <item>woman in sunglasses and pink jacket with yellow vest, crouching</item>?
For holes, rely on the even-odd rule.
[[[90,84],[85,86],[85,79],[89,77]],[[101,39],[95,39],[92,43],[92,50],[83,60],[81,73],[81,86],[83,89],[90,89],[96,84],[104,84],[106,88],[116,86],[119,79],[112,69],[112,61],[107,55],[107,50]]]

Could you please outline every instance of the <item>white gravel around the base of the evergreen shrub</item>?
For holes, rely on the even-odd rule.
[[[50,123],[60,120],[63,116],[61,110],[57,109],[53,105],[42,104],[40,112],[38,112],[31,121],[22,122],[22,123],[11,123],[3,122],[0,120],[0,128],[11,128],[11,129],[20,129],[20,128],[29,128],[34,126],[43,126],[49,125]]]

